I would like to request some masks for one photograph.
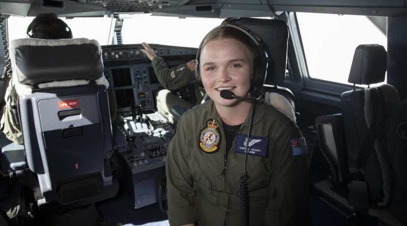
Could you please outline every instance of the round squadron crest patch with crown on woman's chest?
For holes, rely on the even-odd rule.
[[[205,153],[216,153],[221,140],[219,124],[215,119],[209,119],[206,124],[199,135],[199,148]]]

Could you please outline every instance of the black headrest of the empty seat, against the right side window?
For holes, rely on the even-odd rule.
[[[387,52],[381,45],[359,45],[353,56],[348,82],[370,85],[385,80]]]

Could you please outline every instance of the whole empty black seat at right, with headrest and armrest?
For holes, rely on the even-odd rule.
[[[388,208],[393,202],[391,174],[397,169],[392,168],[386,146],[379,139],[389,109],[400,102],[398,92],[388,84],[369,87],[385,80],[386,68],[383,46],[358,46],[348,78],[354,89],[342,93],[342,114],[318,117],[316,127],[334,182],[350,183],[348,204],[367,210],[385,224],[402,225]],[[368,87],[356,88],[356,84]]]

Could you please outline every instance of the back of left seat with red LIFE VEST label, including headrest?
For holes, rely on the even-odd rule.
[[[28,167],[42,199],[74,208],[117,193],[101,48],[95,40],[10,43]]]

